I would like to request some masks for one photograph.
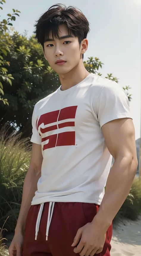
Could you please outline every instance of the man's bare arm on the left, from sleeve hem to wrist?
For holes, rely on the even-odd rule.
[[[41,145],[33,143],[30,165],[23,184],[22,203],[15,233],[24,233],[27,213],[37,190],[37,182],[41,176],[42,161]]]

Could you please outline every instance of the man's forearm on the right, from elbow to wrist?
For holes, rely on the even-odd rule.
[[[115,160],[107,179],[104,198],[93,219],[94,225],[96,223],[100,225],[104,232],[107,231],[128,196],[136,170],[136,159],[122,157]]]

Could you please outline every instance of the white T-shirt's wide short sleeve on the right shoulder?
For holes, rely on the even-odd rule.
[[[115,119],[132,119],[127,93],[115,81],[102,88],[96,103],[96,115],[100,127]]]

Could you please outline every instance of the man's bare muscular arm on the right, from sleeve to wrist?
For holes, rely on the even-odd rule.
[[[135,132],[132,119],[116,119],[102,126],[109,152],[115,162],[94,225],[106,232],[129,194],[137,170]]]

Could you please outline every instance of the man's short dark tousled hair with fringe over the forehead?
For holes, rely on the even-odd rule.
[[[84,14],[79,9],[73,6],[66,7],[64,4],[52,5],[36,22],[35,38],[43,49],[50,31],[52,31],[53,38],[59,39],[59,25],[61,24],[66,25],[68,34],[78,37],[79,44],[87,38],[90,31],[89,22]]]

